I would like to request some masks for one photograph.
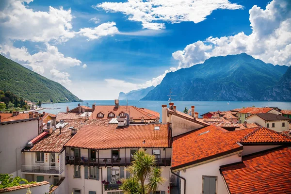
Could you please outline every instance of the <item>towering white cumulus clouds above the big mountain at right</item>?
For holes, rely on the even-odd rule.
[[[246,52],[274,65],[291,65],[291,1],[273,0],[266,9],[254,5],[249,10],[252,33],[209,37],[172,54],[178,68],[203,63],[212,56]]]

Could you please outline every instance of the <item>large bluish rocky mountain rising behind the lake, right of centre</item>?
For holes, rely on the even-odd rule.
[[[266,64],[246,53],[211,57],[203,64],[167,73],[142,100],[168,100],[170,89],[177,95],[173,100],[260,100],[286,67]]]

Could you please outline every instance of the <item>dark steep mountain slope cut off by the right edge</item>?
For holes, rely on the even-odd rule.
[[[291,66],[275,86],[264,93],[261,99],[268,101],[291,101]]]

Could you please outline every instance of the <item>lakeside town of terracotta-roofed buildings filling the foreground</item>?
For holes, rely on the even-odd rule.
[[[280,108],[183,113],[170,102],[160,115],[114,100],[0,113],[0,174],[27,181],[0,193],[123,194],[141,148],[165,178],[152,194],[291,193],[291,110]]]

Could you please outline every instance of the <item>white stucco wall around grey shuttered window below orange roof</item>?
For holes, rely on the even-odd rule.
[[[226,185],[219,172],[219,166],[234,162],[241,162],[242,157],[238,154],[228,156],[216,161],[208,162],[191,168],[186,172],[180,171],[180,175],[186,178],[186,194],[202,194],[202,176],[217,177],[217,194],[227,194]],[[181,194],[184,193],[184,180],[181,179]]]

